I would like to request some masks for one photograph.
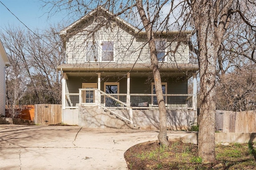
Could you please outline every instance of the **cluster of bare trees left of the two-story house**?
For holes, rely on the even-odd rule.
[[[64,55],[56,32],[51,27],[40,35],[9,25],[0,33],[12,63],[6,76],[8,104],[61,103],[56,66],[64,62]]]

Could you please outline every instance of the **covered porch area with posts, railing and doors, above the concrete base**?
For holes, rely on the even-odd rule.
[[[189,76],[193,77],[191,94],[188,94]],[[110,109],[127,109],[127,106],[133,109],[158,109],[154,82],[150,82],[148,77],[130,72],[63,73],[63,109],[86,105]],[[179,76],[162,74],[162,92],[166,109],[196,110],[196,72]]]

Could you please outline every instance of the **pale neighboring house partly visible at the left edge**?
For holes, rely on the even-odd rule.
[[[10,61],[0,41],[0,114],[5,115],[5,68],[10,66]]]

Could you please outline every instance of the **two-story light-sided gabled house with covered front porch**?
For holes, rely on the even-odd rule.
[[[191,31],[156,32],[168,128],[197,121]],[[159,111],[146,32],[98,7],[60,31],[66,51],[62,121],[83,127],[158,129]],[[193,93],[188,94],[188,79]]]

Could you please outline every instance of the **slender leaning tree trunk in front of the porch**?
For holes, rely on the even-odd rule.
[[[164,102],[164,96],[162,92],[162,82],[160,71],[158,67],[158,59],[156,55],[156,45],[154,41],[154,32],[152,31],[152,23],[150,22],[150,16],[146,16],[145,10],[143,8],[142,0],[136,0],[136,7],[140,14],[140,18],[144,25],[144,28],[147,32],[147,39],[150,49],[150,59],[151,59],[151,67],[154,76],[155,88],[156,88],[156,98],[159,106],[159,134],[158,140],[160,141],[160,145],[168,146],[169,143],[167,141],[167,114]]]

